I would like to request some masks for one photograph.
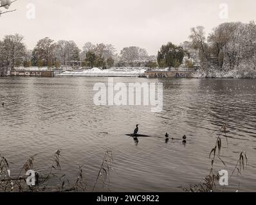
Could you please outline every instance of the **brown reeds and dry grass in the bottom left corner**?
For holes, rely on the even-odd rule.
[[[61,150],[57,150],[53,154],[53,160],[51,163],[51,168],[48,174],[36,173],[36,183],[35,186],[28,186],[26,184],[26,172],[28,170],[33,170],[33,163],[35,161],[35,156],[31,156],[21,168],[19,175],[16,177],[10,176],[10,162],[6,160],[5,157],[0,154],[0,192],[86,192],[87,184],[84,179],[84,174],[82,166],[78,166],[77,179],[73,184],[69,183],[66,174],[62,174],[60,158]],[[113,156],[111,151],[107,151],[104,154],[104,159],[99,170],[99,174],[96,178],[93,190],[96,188],[96,184],[99,179],[102,180],[104,186],[107,185],[106,181],[108,175],[110,174],[111,164],[113,163]],[[57,179],[57,180],[56,180]],[[55,186],[50,186],[54,181],[59,181],[59,184]]]

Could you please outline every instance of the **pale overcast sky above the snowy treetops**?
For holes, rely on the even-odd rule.
[[[35,4],[35,19],[26,6]],[[221,3],[228,4],[228,19],[221,19]],[[162,44],[188,40],[190,28],[211,31],[225,21],[256,20],[255,0],[18,0],[0,17],[0,38],[20,33],[28,49],[40,38],[113,44],[117,51],[136,45],[156,54]],[[1,9],[4,10],[4,9]]]

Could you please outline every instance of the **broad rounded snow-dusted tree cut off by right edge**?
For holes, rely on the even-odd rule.
[[[223,63],[218,64],[219,67],[232,70],[238,68],[242,63],[248,64],[250,61],[253,63],[256,45],[254,22],[250,22],[250,24],[227,22],[217,26],[214,30],[218,31],[218,33],[210,36],[210,42],[214,42],[215,46],[212,44],[210,46],[212,51],[217,54],[217,61],[220,61],[219,55],[221,54]]]

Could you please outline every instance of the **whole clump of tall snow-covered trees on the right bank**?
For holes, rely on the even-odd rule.
[[[190,38],[199,49],[200,70],[206,76],[230,70],[239,73],[238,76],[256,75],[255,22],[224,22],[212,30],[207,41],[203,27],[199,26],[192,29]]]

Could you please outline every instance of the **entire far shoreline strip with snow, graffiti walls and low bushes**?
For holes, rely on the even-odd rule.
[[[3,69],[3,68],[1,68]],[[192,70],[186,68],[180,69],[147,69],[147,68],[132,68],[127,67],[120,69],[114,67],[111,69],[84,69],[84,70],[62,70],[62,69],[47,69],[47,68],[15,68],[13,70],[5,68],[5,74],[0,78],[5,77],[47,77],[47,78],[214,78],[214,79],[255,79],[256,70]]]

